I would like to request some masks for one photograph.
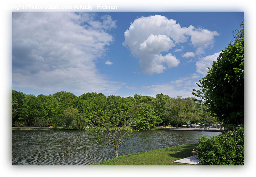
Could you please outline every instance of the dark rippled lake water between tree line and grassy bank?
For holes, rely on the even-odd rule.
[[[119,148],[119,156],[197,143],[201,135],[220,132],[137,131]],[[115,157],[115,149],[98,146],[83,130],[13,130],[12,165],[90,165]]]

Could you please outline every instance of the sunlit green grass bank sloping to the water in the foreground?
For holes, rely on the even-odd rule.
[[[92,165],[188,165],[174,163],[173,161],[183,159],[193,154],[197,144],[186,144],[181,146],[167,147],[155,151],[139,152],[123,155]]]

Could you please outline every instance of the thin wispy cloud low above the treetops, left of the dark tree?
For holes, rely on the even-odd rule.
[[[159,93],[167,94],[170,97],[177,97],[182,95],[185,97],[195,97],[192,95],[193,89],[198,89],[195,83],[198,82],[200,76],[196,73],[190,74],[187,77],[181,77],[169,83],[144,86],[144,89],[150,90],[150,95]]]

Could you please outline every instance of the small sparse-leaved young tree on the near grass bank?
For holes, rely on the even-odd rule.
[[[88,133],[101,146],[110,146],[115,149],[116,157],[118,157],[119,147],[125,143],[125,140],[133,137],[133,131],[130,127],[126,127],[126,121],[118,121],[113,119],[112,113],[105,110],[99,114],[95,124],[96,127],[89,130]]]

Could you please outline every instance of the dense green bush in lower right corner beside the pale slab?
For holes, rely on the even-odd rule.
[[[201,165],[244,165],[244,128],[225,134],[198,138],[197,154]]]

